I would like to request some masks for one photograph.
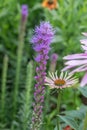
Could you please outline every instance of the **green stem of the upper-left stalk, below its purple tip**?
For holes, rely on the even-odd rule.
[[[25,35],[25,26],[26,22],[21,23],[20,33],[19,33],[19,44],[17,50],[17,62],[16,62],[16,76],[14,82],[14,91],[13,91],[13,118],[15,117],[17,111],[17,100],[18,100],[18,90],[19,90],[19,81],[20,81],[20,72],[22,66],[22,57],[23,57],[23,48],[24,48],[24,35]]]

